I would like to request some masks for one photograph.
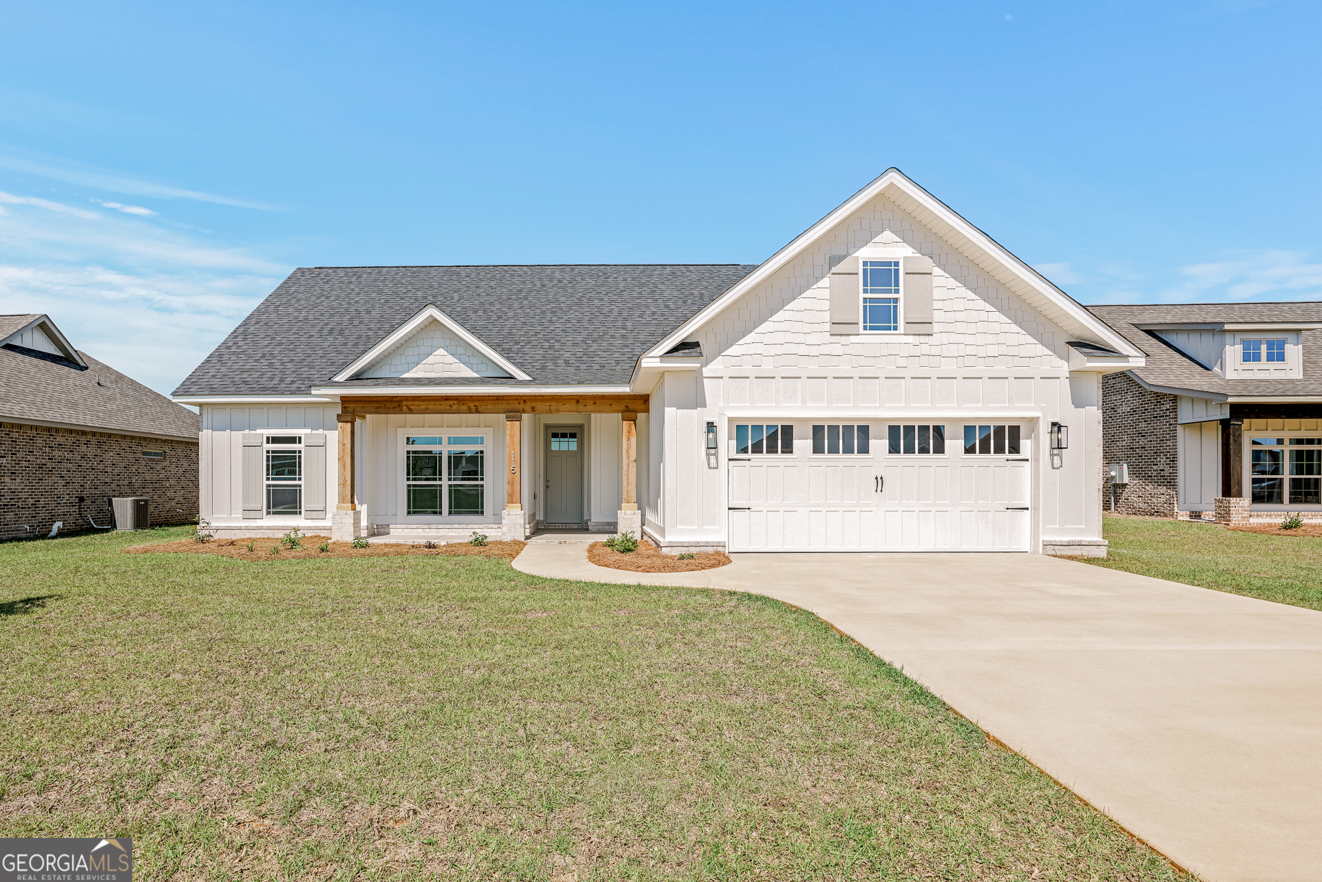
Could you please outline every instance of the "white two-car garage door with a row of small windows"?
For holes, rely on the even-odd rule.
[[[1022,426],[739,421],[731,435],[731,551],[1029,550]]]

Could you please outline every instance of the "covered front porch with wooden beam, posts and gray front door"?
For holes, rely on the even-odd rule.
[[[337,541],[641,534],[646,395],[341,395],[336,419]]]

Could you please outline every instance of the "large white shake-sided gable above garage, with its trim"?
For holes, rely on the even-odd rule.
[[[933,262],[932,333],[833,335],[842,258]],[[985,233],[890,169],[644,354],[703,337],[744,366],[1122,369],[1144,353]],[[1084,341],[1092,349],[1067,344]],[[1088,354],[1091,353],[1091,354]],[[743,360],[750,360],[744,362]],[[767,358],[765,362],[761,358]]]

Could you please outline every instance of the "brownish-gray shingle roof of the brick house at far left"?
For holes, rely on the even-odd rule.
[[[86,369],[32,349],[0,346],[0,421],[32,419],[197,440],[200,421],[192,410],[86,352],[78,354],[87,362]]]

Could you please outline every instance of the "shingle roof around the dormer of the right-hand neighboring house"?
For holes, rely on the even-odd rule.
[[[1088,311],[1144,350],[1147,364],[1133,368],[1153,386],[1225,395],[1322,395],[1322,331],[1305,331],[1302,380],[1225,380],[1136,324],[1223,321],[1318,321],[1322,303],[1179,303],[1088,307]]]

